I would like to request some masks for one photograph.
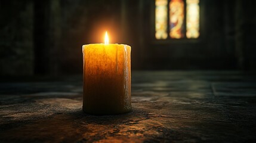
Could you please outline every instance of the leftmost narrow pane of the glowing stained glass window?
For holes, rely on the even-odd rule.
[[[167,38],[167,0],[156,0],[156,39]]]

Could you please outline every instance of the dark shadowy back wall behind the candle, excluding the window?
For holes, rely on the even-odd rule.
[[[0,76],[82,73],[82,45],[132,46],[132,70],[256,70],[256,1],[201,0],[198,39],[155,40],[153,0],[1,0]]]

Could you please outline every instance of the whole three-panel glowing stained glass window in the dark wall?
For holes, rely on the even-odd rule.
[[[155,0],[155,38],[199,37],[199,0]]]

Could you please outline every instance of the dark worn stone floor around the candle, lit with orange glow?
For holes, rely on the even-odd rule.
[[[82,112],[81,76],[1,81],[0,142],[256,142],[255,74],[135,71],[116,116]]]

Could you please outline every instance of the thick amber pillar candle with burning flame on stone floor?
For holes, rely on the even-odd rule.
[[[83,110],[89,114],[131,111],[131,46],[105,43],[82,46],[84,56]]]

